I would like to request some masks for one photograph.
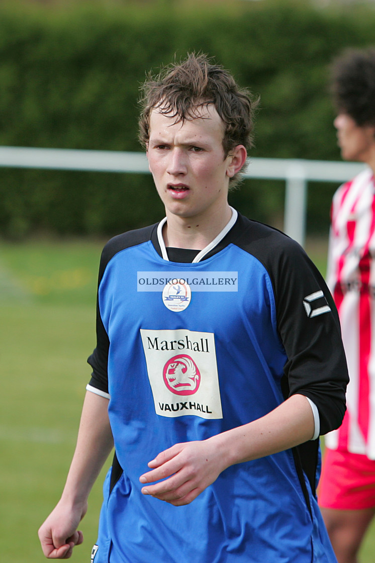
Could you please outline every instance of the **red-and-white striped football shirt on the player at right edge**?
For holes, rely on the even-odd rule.
[[[331,449],[375,459],[375,184],[365,169],[334,194],[327,284],[340,315],[350,382]]]

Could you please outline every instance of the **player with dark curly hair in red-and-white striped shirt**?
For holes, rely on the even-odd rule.
[[[325,438],[319,504],[338,563],[355,563],[375,515],[375,49],[333,64],[342,158],[367,164],[332,203],[328,286],[349,367],[347,412]]]

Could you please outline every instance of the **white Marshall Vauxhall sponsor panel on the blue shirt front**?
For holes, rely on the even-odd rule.
[[[141,329],[141,337],[156,413],[222,418],[213,333]]]

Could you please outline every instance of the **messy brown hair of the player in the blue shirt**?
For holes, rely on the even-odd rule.
[[[199,116],[202,105],[213,104],[224,123],[222,146],[225,158],[237,145],[253,146],[253,119],[258,100],[240,88],[233,76],[207,55],[190,53],[178,63],[164,66],[156,77],[150,74],[141,87],[139,140],[145,148],[150,136],[150,114],[158,109],[176,123]],[[239,175],[230,178],[231,187]]]

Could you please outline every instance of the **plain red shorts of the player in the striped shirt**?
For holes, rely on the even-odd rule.
[[[336,510],[375,507],[375,460],[325,448],[318,502]]]

